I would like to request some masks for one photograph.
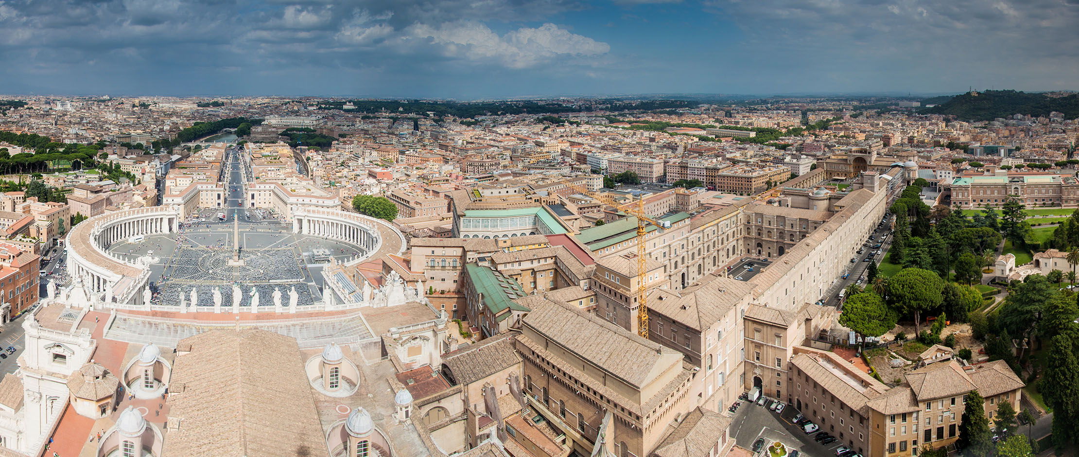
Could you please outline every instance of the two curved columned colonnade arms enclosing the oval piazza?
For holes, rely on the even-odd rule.
[[[65,285],[64,293],[58,295],[78,295],[73,291],[81,286],[85,299],[93,304],[108,308],[151,309],[150,304],[144,303],[150,270],[121,260],[105,250],[132,237],[177,232],[181,220],[179,209],[172,206],[124,210],[83,220],[66,238],[71,284]],[[393,225],[340,210],[298,210],[292,217],[292,232],[344,241],[365,250],[346,265],[361,264],[386,253],[400,254],[406,247],[405,236]],[[152,308],[173,310],[176,307],[154,305]]]

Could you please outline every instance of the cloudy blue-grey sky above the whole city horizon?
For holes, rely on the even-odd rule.
[[[0,93],[1079,89],[1079,0],[0,0]]]

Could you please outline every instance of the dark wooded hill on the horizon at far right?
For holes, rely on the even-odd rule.
[[[992,121],[1012,115],[1049,116],[1052,111],[1064,113],[1066,119],[1079,118],[1079,94],[1061,96],[1060,93],[1025,93],[1017,91],[985,91],[951,97],[933,97],[923,104],[939,104],[921,112],[952,115],[966,121]]]

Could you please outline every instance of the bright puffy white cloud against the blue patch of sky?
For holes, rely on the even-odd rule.
[[[428,40],[449,57],[495,61],[509,68],[527,68],[558,56],[595,56],[611,51],[607,43],[572,33],[554,24],[522,27],[505,36],[480,23],[456,22],[432,27],[414,24],[406,39]]]

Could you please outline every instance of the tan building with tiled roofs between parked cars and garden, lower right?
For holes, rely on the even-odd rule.
[[[1000,402],[1019,411],[1024,384],[1002,361],[961,365],[954,359],[906,372],[889,388],[830,351],[795,347],[787,400],[866,457],[916,456],[924,445],[953,444],[966,394],[985,398],[992,420]]]

